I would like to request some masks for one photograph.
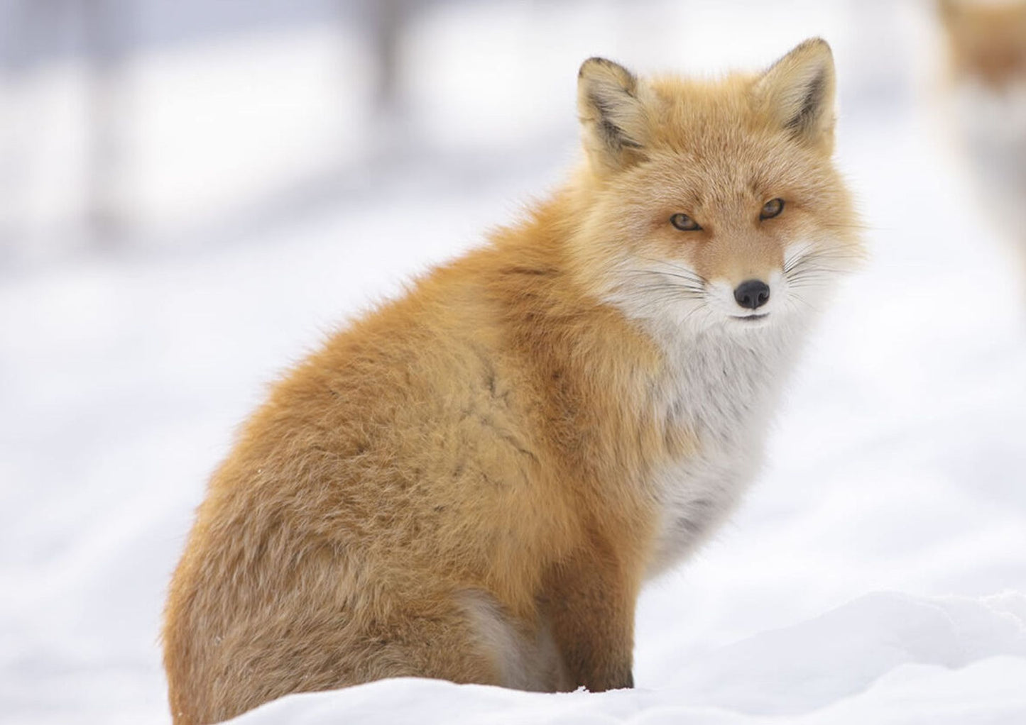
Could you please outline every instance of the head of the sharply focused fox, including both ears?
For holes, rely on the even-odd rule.
[[[628,317],[748,334],[817,307],[860,255],[831,163],[834,68],[814,39],[759,75],[578,83],[585,284]]]

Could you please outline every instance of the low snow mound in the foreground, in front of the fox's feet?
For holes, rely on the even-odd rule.
[[[662,688],[539,695],[402,679],[283,697],[232,722],[1013,723],[1026,708],[1026,629],[1003,604],[867,595],[708,653]]]

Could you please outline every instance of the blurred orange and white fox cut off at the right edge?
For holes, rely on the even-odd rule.
[[[1026,282],[1026,0],[939,0],[938,7],[953,130]]]

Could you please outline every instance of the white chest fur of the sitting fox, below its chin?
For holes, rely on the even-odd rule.
[[[661,340],[668,369],[656,414],[694,432],[698,452],[661,467],[648,482],[662,511],[649,575],[692,552],[735,508],[761,462],[801,336],[793,325],[731,332]]]

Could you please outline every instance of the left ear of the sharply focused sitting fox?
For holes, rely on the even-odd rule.
[[[647,119],[640,82],[623,66],[590,57],[578,73],[578,117],[592,168],[611,172],[644,158]]]

